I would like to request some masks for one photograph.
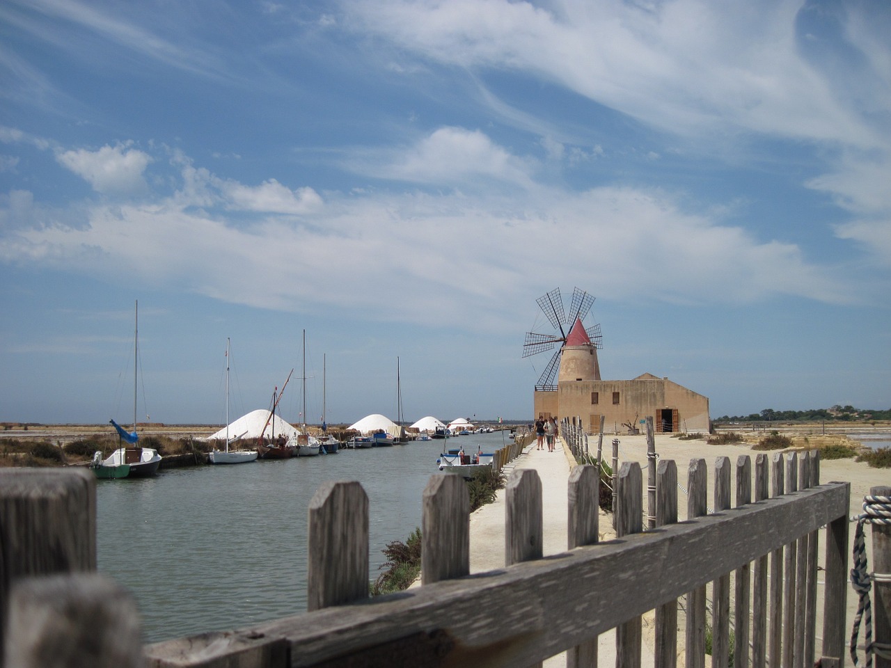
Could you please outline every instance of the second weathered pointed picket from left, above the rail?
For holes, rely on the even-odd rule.
[[[470,493],[461,476],[431,476],[422,495],[421,584],[470,574]]]

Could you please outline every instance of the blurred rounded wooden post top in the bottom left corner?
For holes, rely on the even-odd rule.
[[[136,602],[103,575],[19,580],[9,599],[8,632],[5,655],[11,667],[143,666]]]

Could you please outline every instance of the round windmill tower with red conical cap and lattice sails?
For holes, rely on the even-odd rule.
[[[555,378],[558,382],[601,379],[601,367],[597,361],[597,349],[603,347],[601,326],[595,324],[585,329],[582,324],[595,298],[584,290],[573,289],[568,317],[563,308],[560,288],[552,289],[536,300],[554,331],[552,334],[527,331],[526,341],[523,343],[523,357],[544,353],[545,350],[552,350],[554,346],[560,344],[535,384],[536,392],[556,391]]]

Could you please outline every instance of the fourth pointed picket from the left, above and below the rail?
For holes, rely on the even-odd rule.
[[[599,540],[601,475],[599,466],[576,466],[569,474],[569,550],[594,545]],[[597,638],[569,648],[567,668],[597,668]]]

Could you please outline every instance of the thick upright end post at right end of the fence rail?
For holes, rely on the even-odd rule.
[[[850,497],[851,484],[845,486]],[[847,607],[847,524],[847,515],[843,515],[826,528],[822,668],[841,668],[845,664],[845,623],[842,620]]]

